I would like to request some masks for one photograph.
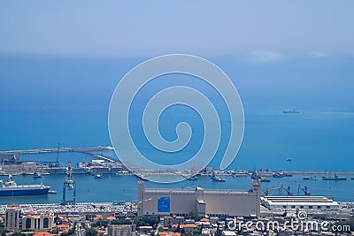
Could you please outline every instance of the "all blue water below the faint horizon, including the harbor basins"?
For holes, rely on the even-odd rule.
[[[284,114],[279,109],[245,110],[245,133],[235,161],[230,170],[273,170],[273,171],[353,171],[351,156],[354,154],[354,112],[321,108],[301,110],[298,114]],[[107,108],[104,107],[61,107],[10,109],[3,111],[0,139],[3,149],[94,147],[111,145],[107,128]],[[6,114],[6,115],[4,115]],[[5,125],[6,124],[6,125]],[[196,126],[196,130],[197,130]],[[104,155],[117,158],[113,151]],[[164,156],[160,156],[163,158]],[[21,161],[56,161],[57,153],[22,155]],[[288,159],[291,158],[291,161]],[[92,161],[92,156],[74,153],[59,153],[58,161],[66,166]],[[212,168],[218,169],[214,160]],[[271,178],[262,183],[262,191],[271,194],[286,194],[280,187],[290,187],[293,194],[304,194],[299,188],[308,187],[312,195],[326,195],[337,201],[354,201],[354,180],[347,175],[344,181],[304,180],[309,175],[294,175],[287,178]],[[6,176],[1,179],[6,180]],[[77,183],[77,202],[133,201],[137,199],[135,176],[104,175],[94,179],[89,175],[74,175]],[[58,194],[47,196],[1,197],[0,204],[61,202],[65,175],[43,175],[42,179],[32,176],[14,176],[19,184],[43,183]],[[226,176],[225,182],[214,182],[208,176],[197,180],[185,180],[174,184],[147,182],[147,187],[212,189],[250,189],[250,177]]]

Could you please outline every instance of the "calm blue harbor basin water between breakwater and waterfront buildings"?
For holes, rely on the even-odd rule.
[[[323,180],[304,180],[304,176],[296,175],[291,178],[275,179],[270,178],[270,183],[262,183],[262,192],[266,189],[271,194],[286,194],[284,190],[280,192],[279,187],[290,187],[291,192],[295,195],[304,193],[298,189],[300,184],[302,187],[307,186],[312,195],[326,195],[334,197],[336,201],[354,201],[354,180],[346,181],[323,181]],[[204,187],[205,189],[250,189],[250,177],[223,177],[226,182],[214,182],[208,176],[198,177],[195,181],[182,181],[174,184],[156,184],[146,182],[146,187],[163,187],[163,188],[184,188],[193,189],[195,187]],[[320,177],[318,177],[320,179]],[[5,180],[6,178],[0,178]],[[57,190],[58,194],[48,194],[46,196],[26,196],[26,197],[1,197],[0,204],[6,203],[44,203],[44,202],[61,202],[63,193],[63,182],[65,175],[42,176],[42,179],[34,179],[31,176],[14,176],[18,183],[21,184],[40,184],[41,181],[52,190]],[[95,179],[88,175],[74,175],[77,184],[77,201],[78,202],[112,202],[115,200],[133,201],[137,199],[137,181],[135,176],[116,176],[105,175],[104,179]]]

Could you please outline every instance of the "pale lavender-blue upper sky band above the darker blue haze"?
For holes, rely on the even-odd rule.
[[[353,1],[2,1],[0,53],[354,54]]]

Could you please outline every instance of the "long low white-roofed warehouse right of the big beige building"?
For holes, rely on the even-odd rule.
[[[267,209],[339,209],[338,202],[324,196],[265,196],[261,202]]]

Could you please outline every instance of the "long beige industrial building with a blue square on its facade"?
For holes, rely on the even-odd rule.
[[[259,217],[260,184],[252,180],[250,190],[152,189],[138,183],[138,214],[187,216]]]

